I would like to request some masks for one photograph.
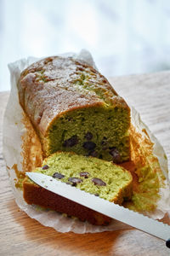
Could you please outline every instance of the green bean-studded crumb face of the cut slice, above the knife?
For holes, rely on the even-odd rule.
[[[58,152],[44,160],[42,167],[34,172],[55,177],[108,201],[115,201],[122,194],[122,202],[124,197],[129,199],[132,195],[131,173],[94,157]]]

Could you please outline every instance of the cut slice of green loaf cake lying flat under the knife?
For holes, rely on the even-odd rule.
[[[42,167],[34,172],[41,172],[54,177],[61,182],[77,186],[95,196],[105,200],[122,204],[132,195],[133,177],[130,172],[117,166],[111,161],[86,157],[71,152],[57,152],[43,160]],[[66,213],[91,224],[109,224],[111,218],[99,212],[94,212],[76,202],[56,195],[33,183],[29,177],[23,182],[24,199],[28,204],[49,208],[57,212]],[[78,190],[77,190],[78,193]]]

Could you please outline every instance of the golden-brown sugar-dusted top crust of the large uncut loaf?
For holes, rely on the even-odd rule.
[[[89,84],[93,90],[85,89]],[[18,90],[20,105],[42,136],[59,114],[76,108],[105,102],[128,108],[104,76],[72,58],[54,56],[33,63],[21,73]]]

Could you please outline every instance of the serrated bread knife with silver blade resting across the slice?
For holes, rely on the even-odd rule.
[[[93,209],[96,212],[105,214],[108,217],[115,218],[124,224],[133,226],[138,230],[161,238],[166,241],[167,247],[170,247],[170,226],[163,224],[155,219],[133,212],[125,207],[121,207],[113,202],[106,201],[95,195],[91,195],[81,189],[62,183],[54,177],[37,172],[26,172],[34,183],[37,183],[44,189],[48,189],[55,194],[75,201],[78,204]],[[78,192],[78,193],[77,193]]]

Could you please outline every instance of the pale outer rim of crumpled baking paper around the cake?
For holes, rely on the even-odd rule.
[[[94,60],[87,50],[82,50],[78,55],[68,53],[65,54],[65,56],[73,56],[76,59],[81,59],[96,68]],[[92,224],[88,224],[88,222],[81,222],[77,218],[65,218],[64,214],[60,214],[58,212],[27,205],[26,201],[23,200],[22,191],[16,188],[15,182],[17,177],[15,171],[16,166],[17,170],[20,172],[22,172],[23,169],[22,137],[26,134],[26,126],[21,121],[23,118],[23,110],[19,104],[16,84],[20,78],[20,72],[31,65],[34,61],[37,61],[37,59],[29,57],[28,59],[15,61],[8,65],[11,75],[11,91],[3,120],[3,155],[6,161],[8,177],[17,205],[31,218],[35,218],[44,226],[52,227],[54,230],[59,232],[72,231],[83,234],[87,232],[95,233],[106,230],[129,229],[130,227],[127,224],[122,224],[116,220],[112,220],[111,224],[108,226],[94,226]],[[131,115],[132,124],[136,131],[138,131],[142,137],[147,137],[152,143],[154,143],[153,154],[155,154],[159,160],[161,171],[166,177],[165,187],[160,189],[161,199],[157,204],[156,211],[151,213],[148,212],[146,214],[151,218],[163,218],[166,212],[170,212],[170,194],[166,155],[156,137],[150,133],[148,127],[144,125],[140,119],[139,113],[137,113],[134,108],[131,108]]]

